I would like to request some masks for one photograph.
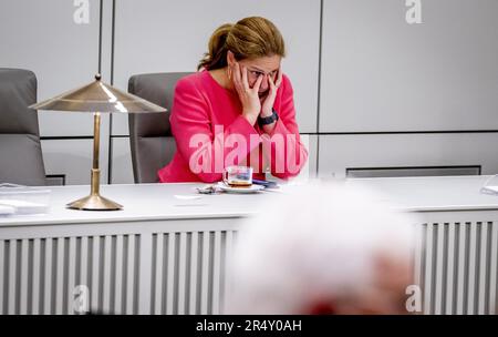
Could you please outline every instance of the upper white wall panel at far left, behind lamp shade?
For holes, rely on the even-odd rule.
[[[100,1],[90,0],[87,24],[74,22],[73,2],[0,2],[0,67],[33,71],[39,101],[86,84],[98,70]],[[92,118],[43,112],[40,131],[43,136],[91,135]]]

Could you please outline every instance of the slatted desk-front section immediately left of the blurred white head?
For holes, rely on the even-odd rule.
[[[151,313],[219,314],[235,232],[153,235]]]

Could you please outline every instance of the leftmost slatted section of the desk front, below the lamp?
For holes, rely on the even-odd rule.
[[[0,314],[74,314],[74,287],[90,312],[137,313],[139,236],[0,241]]]

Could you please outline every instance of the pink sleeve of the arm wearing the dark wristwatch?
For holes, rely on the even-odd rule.
[[[271,157],[271,174],[280,178],[289,178],[298,175],[305,164],[308,150],[301,143],[295,123],[292,84],[286,75],[280,90],[282,90],[281,101],[277,110],[279,120],[272,133],[262,136],[262,144],[263,152]],[[268,155],[269,151],[271,151],[270,155]]]

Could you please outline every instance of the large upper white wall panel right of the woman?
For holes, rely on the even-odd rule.
[[[325,0],[321,132],[498,130],[498,1]]]

